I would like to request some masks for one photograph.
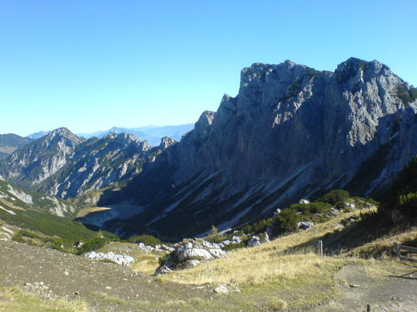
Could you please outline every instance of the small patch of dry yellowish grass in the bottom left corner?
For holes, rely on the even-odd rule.
[[[0,287],[1,312],[88,312],[83,301],[43,300],[18,287]]]

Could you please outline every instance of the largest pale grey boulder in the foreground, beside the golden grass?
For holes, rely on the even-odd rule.
[[[158,267],[155,274],[162,272],[164,270],[162,267],[168,267],[169,270],[187,269],[199,265],[201,261],[225,258],[226,256],[226,252],[221,250],[219,245],[202,239],[180,243],[172,253],[167,255],[164,263]]]

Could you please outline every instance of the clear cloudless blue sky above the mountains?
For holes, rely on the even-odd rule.
[[[0,0],[0,133],[195,122],[253,62],[378,59],[416,85],[416,19],[416,0]]]

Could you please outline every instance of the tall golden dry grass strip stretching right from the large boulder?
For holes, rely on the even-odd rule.
[[[323,260],[308,250],[300,249],[287,253],[290,248],[321,238],[327,233],[339,231],[340,221],[357,216],[360,211],[348,212],[332,220],[317,224],[312,229],[282,236],[274,241],[255,248],[241,248],[228,253],[227,258],[204,262],[189,270],[174,271],[164,276],[172,282],[184,284],[204,283],[262,283],[271,279],[291,279],[316,272],[317,268],[340,265],[340,262],[352,262],[353,259],[329,258]],[[335,229],[338,227],[337,229]],[[156,268],[156,267],[155,267]],[[155,270],[155,268],[153,270]],[[321,271],[321,270],[318,270]],[[319,273],[317,271],[317,273]]]

